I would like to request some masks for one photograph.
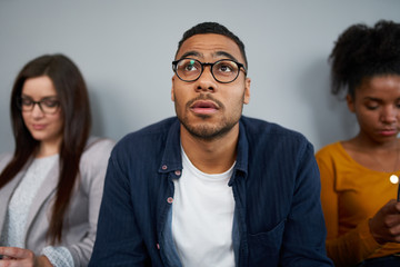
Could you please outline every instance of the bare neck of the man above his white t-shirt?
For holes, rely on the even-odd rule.
[[[239,123],[227,135],[212,140],[193,137],[181,126],[181,142],[190,161],[206,174],[222,174],[232,167],[237,157]]]

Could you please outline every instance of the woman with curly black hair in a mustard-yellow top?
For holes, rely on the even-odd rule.
[[[327,253],[336,266],[400,266],[400,24],[349,27],[334,44],[332,93],[359,132],[316,155]]]

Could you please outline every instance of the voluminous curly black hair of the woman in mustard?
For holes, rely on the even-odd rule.
[[[336,41],[329,61],[333,95],[354,97],[366,78],[400,75],[400,23],[380,20],[374,27],[350,26]]]

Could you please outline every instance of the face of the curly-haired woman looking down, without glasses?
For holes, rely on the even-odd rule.
[[[374,142],[397,139],[400,129],[400,76],[387,75],[364,79],[348,96],[349,109],[356,113],[360,136]]]

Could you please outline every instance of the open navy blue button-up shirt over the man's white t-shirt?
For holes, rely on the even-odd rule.
[[[176,117],[117,144],[89,266],[181,266],[171,233],[172,179],[181,172]],[[229,186],[236,266],[333,266],[324,250],[319,170],[302,135],[242,116]]]

